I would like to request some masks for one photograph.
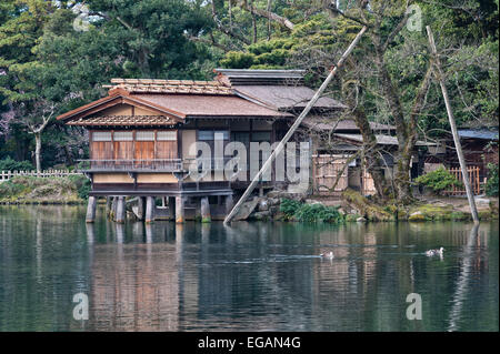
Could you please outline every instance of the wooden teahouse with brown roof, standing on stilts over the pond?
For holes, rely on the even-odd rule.
[[[126,196],[138,196],[138,214],[146,221],[161,211],[156,198],[167,201],[166,216],[178,222],[223,218],[250,176],[231,182],[212,171],[211,179],[194,181],[186,173],[197,158],[189,146],[196,141],[213,146],[216,140],[272,144],[313,95],[294,70],[217,70],[213,81],[113,79],[106,88],[107,97],[58,117],[89,131],[90,159],[81,161],[92,182],[88,221],[98,196],[114,198],[119,222]],[[328,98],[318,105],[343,108]]]

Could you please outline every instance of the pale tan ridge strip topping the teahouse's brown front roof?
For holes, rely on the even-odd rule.
[[[130,93],[188,93],[188,94],[232,94],[231,88],[219,81],[111,79],[106,89],[123,89]]]

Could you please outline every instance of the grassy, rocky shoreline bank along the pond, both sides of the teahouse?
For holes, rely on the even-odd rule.
[[[20,176],[0,183],[0,205],[86,205],[90,182],[84,176]],[[100,199],[99,203],[106,203]],[[499,199],[476,196],[480,220],[499,219]],[[352,190],[341,196],[270,191],[243,203],[234,221],[290,222],[429,222],[472,220],[466,198],[420,196],[411,205],[378,205]]]

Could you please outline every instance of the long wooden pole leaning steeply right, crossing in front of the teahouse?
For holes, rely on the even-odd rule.
[[[349,45],[349,48],[346,50],[346,52],[342,54],[340,60],[337,62],[337,65],[334,65],[332,68],[332,70],[330,70],[330,73],[328,74],[328,77],[324,80],[324,82],[321,84],[321,87],[314,93],[312,99],[306,105],[306,108],[303,109],[302,113],[300,113],[300,115],[297,118],[296,122],[289,129],[289,131],[283,136],[283,139],[280,141],[278,146],[272,151],[271,155],[264,162],[264,164],[262,165],[262,169],[260,169],[260,171],[256,174],[256,176],[253,178],[252,182],[247,188],[247,190],[244,191],[243,195],[240,198],[238,203],[234,205],[234,208],[231,210],[231,212],[226,216],[224,225],[227,225],[232,220],[232,218],[234,218],[234,215],[238,213],[241,204],[243,204],[243,202],[247,200],[247,198],[253,192],[253,189],[256,188],[257,183],[259,183],[259,180],[261,179],[262,174],[266,173],[266,171],[268,171],[268,169],[271,166],[272,162],[274,161],[276,156],[284,149],[284,145],[290,140],[291,135],[293,135],[293,133],[296,132],[297,128],[299,128],[300,123],[302,123],[302,120],[306,118],[306,115],[308,115],[309,111],[312,109],[312,107],[319,100],[319,98],[321,97],[323,91],[327,89],[327,85],[330,83],[331,79],[333,79],[333,77],[336,75],[338,69],[340,67],[342,67],[343,62],[346,61],[346,58],[351,53],[351,51],[358,44],[358,42],[360,41],[361,37],[363,36],[363,33],[366,31],[367,31],[367,27],[363,27],[361,29],[361,31],[359,31],[358,36],[356,36],[354,40]]]

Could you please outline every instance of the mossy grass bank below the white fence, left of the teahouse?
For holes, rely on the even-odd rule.
[[[86,201],[89,184],[83,175],[43,179],[16,176],[0,183],[0,203],[79,204]]]

